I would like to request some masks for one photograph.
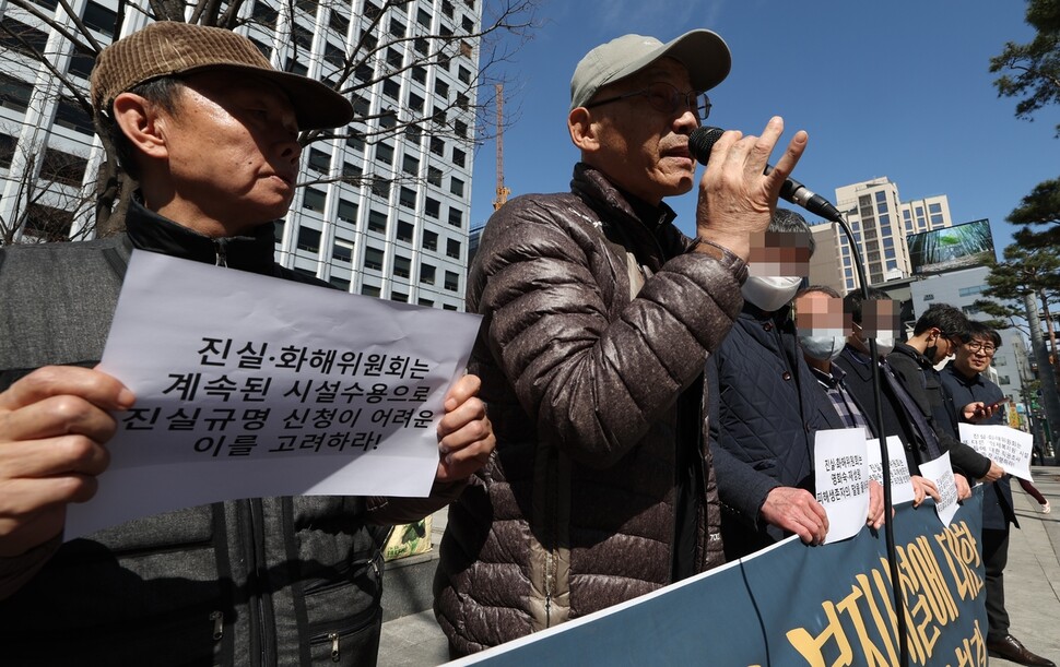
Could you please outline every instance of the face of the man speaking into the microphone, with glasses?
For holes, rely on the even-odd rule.
[[[692,90],[684,65],[663,58],[634,76],[604,86],[593,98],[639,91],[657,82],[680,92]],[[647,97],[634,95],[592,107],[589,112],[600,145],[585,159],[612,182],[649,204],[692,190],[696,163],[688,153],[688,134],[699,127],[695,109],[682,105],[667,112]]]

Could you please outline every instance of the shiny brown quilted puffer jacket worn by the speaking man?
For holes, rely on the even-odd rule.
[[[671,583],[679,445],[696,480],[692,568],[723,562],[699,378],[746,267],[691,252],[668,209],[649,229],[587,165],[572,190],[494,214],[468,281],[484,315],[469,370],[497,449],[441,543],[435,612],[456,654]]]

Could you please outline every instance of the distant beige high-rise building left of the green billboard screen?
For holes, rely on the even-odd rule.
[[[910,275],[908,235],[953,224],[946,195],[903,202],[898,186],[885,176],[836,188],[836,207],[850,224],[870,285]],[[836,242],[834,257],[815,258],[823,269],[811,275],[811,283],[828,284],[840,291],[859,287],[846,235],[831,223],[813,230],[815,236],[833,235]]]

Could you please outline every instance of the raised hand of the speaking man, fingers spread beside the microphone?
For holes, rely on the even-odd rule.
[[[779,116],[769,119],[762,136],[730,130],[710,151],[699,181],[696,231],[743,259],[751,251],[751,234],[765,231],[777,205],[780,186],[805,151],[809,136],[799,131],[768,176],[763,175],[784,132]],[[706,247],[704,251],[709,251]]]

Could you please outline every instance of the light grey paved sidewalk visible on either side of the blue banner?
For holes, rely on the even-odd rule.
[[[1021,529],[1013,529],[1009,540],[1005,607],[1012,634],[1060,665],[1060,467],[1035,466],[1032,473],[1053,510],[1041,514],[1038,503],[1012,483]],[[446,640],[432,611],[382,624],[379,667],[434,667],[447,660]],[[1015,665],[1000,658],[990,658],[989,664]]]

